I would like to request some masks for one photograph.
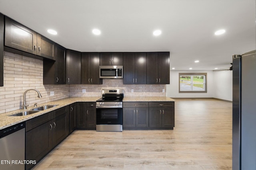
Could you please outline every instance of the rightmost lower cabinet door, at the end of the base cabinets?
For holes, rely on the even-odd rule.
[[[162,108],[162,127],[174,127],[174,107]]]

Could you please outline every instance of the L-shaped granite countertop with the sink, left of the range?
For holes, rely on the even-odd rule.
[[[37,117],[39,115],[43,115],[50,111],[59,109],[60,107],[70,105],[75,102],[96,102],[96,100],[98,100],[98,99],[100,99],[100,97],[73,97],[73,98],[65,98],[65,99],[61,99],[61,100],[56,100],[54,102],[40,104],[37,107],[45,106],[45,105],[58,105],[58,106],[52,107],[50,109],[46,109],[43,111],[38,111],[37,113],[33,113],[31,115],[26,115],[26,116],[9,116],[9,115],[13,115],[15,113],[20,113],[22,111],[28,111],[28,110],[34,109],[36,107],[28,107],[28,109],[26,109],[26,110],[18,109],[18,110],[2,113],[2,114],[0,114],[0,130],[4,129],[6,127],[15,125],[17,123],[21,123],[23,121],[32,119],[33,117]]]

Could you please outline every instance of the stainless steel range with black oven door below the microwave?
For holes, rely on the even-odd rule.
[[[124,89],[103,89],[96,101],[96,131],[123,131]]]

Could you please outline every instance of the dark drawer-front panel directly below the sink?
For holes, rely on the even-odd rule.
[[[35,117],[33,119],[26,121],[26,132],[52,120],[53,112],[54,111],[51,111],[49,113],[45,113],[43,115],[40,115],[38,117]]]

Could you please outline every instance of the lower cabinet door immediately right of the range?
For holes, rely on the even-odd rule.
[[[135,108],[123,108],[123,127],[136,127]]]

